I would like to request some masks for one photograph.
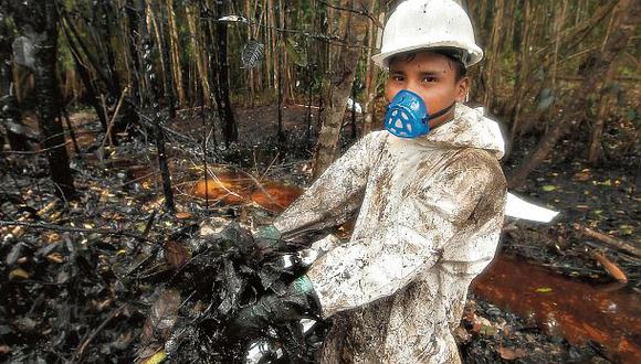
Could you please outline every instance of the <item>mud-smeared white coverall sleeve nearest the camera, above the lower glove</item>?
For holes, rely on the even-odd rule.
[[[307,276],[323,317],[390,296],[432,267],[448,242],[465,228],[481,199],[502,199],[486,195],[494,191],[487,188],[491,183],[501,183],[493,170],[462,156],[427,179],[433,181],[429,185],[409,193],[396,216],[381,222],[370,239],[340,245],[316,260]]]

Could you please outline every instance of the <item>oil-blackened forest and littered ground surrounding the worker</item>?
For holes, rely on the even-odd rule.
[[[0,0],[0,360],[130,358],[153,301],[134,309],[133,298],[191,257],[175,242],[212,216],[269,221],[381,129],[386,74],[370,57],[397,2]],[[638,295],[641,2],[460,3],[485,51],[470,104],[502,124],[511,189],[564,212],[550,226],[507,224],[504,250]],[[109,271],[117,265],[130,266]],[[485,299],[479,317],[493,307]],[[575,350],[634,362],[639,311],[623,311],[629,325],[588,349],[542,329],[536,347],[553,356],[540,358]],[[527,356],[475,318],[467,361]]]

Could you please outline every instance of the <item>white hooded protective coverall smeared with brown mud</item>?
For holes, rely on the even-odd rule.
[[[456,105],[417,139],[365,136],[276,220],[295,236],[360,207],[349,242],[307,272],[334,321],[322,362],[460,362],[451,331],[494,257],[506,195],[503,138],[481,113]]]

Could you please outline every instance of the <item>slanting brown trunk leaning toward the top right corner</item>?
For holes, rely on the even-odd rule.
[[[509,186],[516,188],[525,183],[525,179],[537,165],[539,165],[548,153],[553,150],[556,141],[569,129],[578,125],[585,117],[588,96],[595,95],[588,90],[601,90],[605,86],[603,79],[611,79],[611,74],[616,71],[613,65],[618,55],[626,49],[628,40],[634,33],[641,14],[641,2],[634,0],[619,0],[612,14],[612,35],[607,45],[593,54],[593,61],[586,69],[586,78],[574,95],[574,99],[565,108],[564,115],[548,130],[538,144],[535,152],[515,171],[509,180]],[[606,75],[606,77],[603,77]]]

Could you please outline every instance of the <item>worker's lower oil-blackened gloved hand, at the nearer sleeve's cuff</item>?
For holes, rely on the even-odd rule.
[[[318,317],[320,303],[307,276],[296,278],[282,295],[263,296],[256,303],[242,309],[230,326],[237,338],[255,335],[270,324]]]

